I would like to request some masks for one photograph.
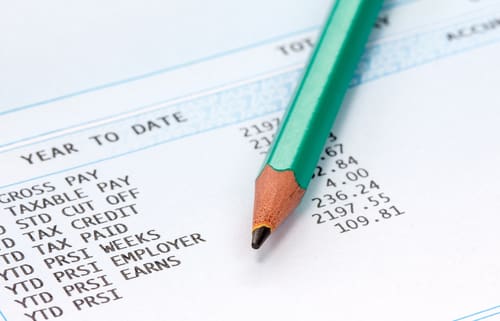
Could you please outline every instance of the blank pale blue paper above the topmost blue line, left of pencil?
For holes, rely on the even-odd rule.
[[[317,26],[331,3],[4,1],[0,5],[0,109]]]

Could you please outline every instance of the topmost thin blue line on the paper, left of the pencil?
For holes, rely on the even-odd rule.
[[[250,45],[247,45],[247,46],[239,47],[239,48],[236,48],[236,49],[231,49],[231,50],[228,50],[228,51],[225,51],[225,52],[221,52],[221,53],[216,53],[214,55],[210,55],[210,56],[206,56],[206,57],[203,57],[203,58],[195,59],[195,60],[192,60],[192,61],[189,61],[189,62],[185,62],[185,63],[179,64],[179,65],[162,68],[162,69],[155,70],[155,71],[152,71],[152,72],[148,72],[148,73],[145,73],[145,74],[142,74],[142,75],[133,76],[133,77],[126,78],[126,79],[109,82],[109,83],[102,84],[102,85],[95,86],[95,87],[90,87],[90,88],[87,88],[87,89],[83,89],[83,90],[80,90],[80,91],[75,91],[75,92],[72,92],[72,93],[69,93],[69,94],[65,94],[65,95],[62,95],[62,96],[58,96],[58,97],[54,97],[54,98],[51,98],[51,99],[38,101],[38,102],[35,102],[35,103],[32,103],[32,104],[18,106],[18,107],[12,107],[12,108],[9,108],[7,110],[0,111],[0,116],[11,114],[11,113],[15,113],[15,112],[19,112],[21,110],[35,108],[35,107],[46,105],[46,104],[53,103],[53,102],[56,102],[56,101],[60,101],[60,100],[72,98],[72,97],[75,97],[75,96],[80,96],[80,95],[87,94],[87,93],[90,93],[90,92],[93,92],[93,91],[99,91],[99,90],[103,90],[103,89],[106,89],[106,88],[123,85],[123,84],[129,83],[129,82],[134,82],[134,81],[137,81],[137,80],[141,80],[141,79],[145,79],[145,78],[150,78],[150,77],[157,76],[157,75],[160,75],[160,74],[163,74],[163,73],[166,73],[166,72],[170,72],[170,71],[181,69],[181,68],[188,67],[188,66],[191,66],[191,65],[199,64],[199,63],[202,63],[202,62],[205,62],[205,61],[208,61],[208,60],[212,60],[212,59],[216,59],[216,58],[220,58],[220,57],[229,56],[229,55],[237,53],[237,52],[241,52],[241,51],[245,51],[245,50],[252,49],[252,48],[255,48],[255,47],[259,47],[259,46],[262,46],[262,45],[270,44],[270,43],[276,42],[277,40],[280,40],[280,39],[283,39],[283,38],[287,38],[287,37],[291,37],[291,36],[298,35],[298,34],[301,34],[301,33],[305,33],[305,32],[309,32],[309,31],[317,30],[319,27],[320,26],[317,25],[317,26],[306,28],[306,29],[302,29],[302,30],[298,30],[298,31],[293,31],[293,32],[290,32],[290,33],[287,33],[287,34],[283,34],[283,35],[280,35],[280,36],[268,38],[268,39],[265,39],[265,40],[262,40],[260,42],[256,42],[256,43],[253,43],[253,44],[250,44]]]

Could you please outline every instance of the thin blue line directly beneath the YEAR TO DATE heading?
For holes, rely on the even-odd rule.
[[[279,108],[279,109],[276,109],[276,110],[273,110],[273,111],[270,111],[270,112],[265,112],[265,113],[262,113],[260,115],[254,116],[254,117],[250,117],[250,118],[245,119],[245,120],[252,120],[252,119],[259,118],[259,117],[264,117],[266,115],[270,115],[270,114],[273,114],[275,112],[278,112],[281,109],[282,108]],[[91,166],[91,165],[99,164],[99,163],[102,163],[102,162],[105,162],[105,161],[108,161],[108,160],[112,160],[112,159],[115,159],[115,158],[120,158],[120,157],[123,157],[123,156],[134,154],[134,153],[137,153],[137,152],[140,152],[140,151],[143,151],[143,150],[151,149],[151,148],[154,148],[154,147],[166,144],[166,143],[174,142],[174,141],[177,141],[177,140],[180,140],[180,139],[188,138],[188,137],[195,136],[195,135],[198,135],[198,134],[203,134],[203,133],[214,131],[214,130],[217,130],[217,129],[226,128],[226,127],[238,124],[240,122],[242,122],[241,119],[236,120],[236,121],[232,121],[232,122],[227,122],[225,124],[222,124],[222,125],[219,125],[219,126],[215,126],[215,127],[211,127],[211,128],[208,128],[208,129],[199,130],[197,132],[193,132],[193,133],[181,135],[181,136],[174,137],[174,138],[165,139],[165,140],[159,141],[159,142],[154,143],[154,144],[150,144],[150,145],[146,145],[146,146],[143,146],[143,147],[140,147],[140,148],[136,148],[136,149],[133,149],[133,150],[126,151],[124,153],[120,153],[120,154],[116,154],[116,155],[113,155],[113,156],[104,157],[104,158],[101,158],[101,159],[98,159],[98,160],[95,160],[95,161],[92,161],[92,162],[87,162],[87,163],[80,164],[80,165],[77,165],[77,166],[73,166],[73,167],[70,167],[70,168],[62,169],[62,170],[59,170],[59,171],[51,172],[51,173],[40,175],[40,176],[36,176],[36,177],[32,177],[32,178],[25,179],[25,180],[22,180],[22,181],[18,181],[18,182],[15,182],[15,183],[10,183],[10,184],[7,184],[7,185],[3,185],[3,186],[0,186],[0,190],[4,189],[4,188],[15,186],[15,185],[20,185],[20,184],[28,183],[28,182],[31,182],[31,181],[35,181],[35,180],[38,180],[38,179],[42,179],[42,178],[46,178],[46,177],[50,177],[50,176],[62,174],[62,173],[69,172],[69,171],[72,171],[72,170],[75,170],[75,169],[79,169],[79,168],[82,168],[82,167],[85,167],[85,166]]]

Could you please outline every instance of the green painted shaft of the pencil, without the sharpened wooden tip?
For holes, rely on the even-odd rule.
[[[337,0],[266,165],[306,188],[383,0]]]

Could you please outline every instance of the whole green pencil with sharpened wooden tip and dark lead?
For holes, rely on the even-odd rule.
[[[255,182],[252,247],[298,206],[383,0],[337,0]]]

